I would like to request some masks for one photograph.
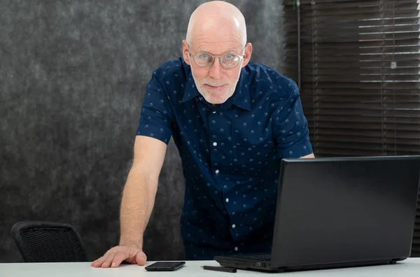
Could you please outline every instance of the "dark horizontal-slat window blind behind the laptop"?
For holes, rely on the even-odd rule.
[[[316,157],[420,155],[420,0],[283,0],[283,28]]]

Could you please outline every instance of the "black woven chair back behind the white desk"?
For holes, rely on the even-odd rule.
[[[25,221],[13,225],[11,235],[25,262],[87,262],[83,241],[71,225]]]

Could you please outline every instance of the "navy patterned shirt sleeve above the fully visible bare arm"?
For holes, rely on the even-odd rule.
[[[141,106],[137,136],[150,136],[166,144],[169,143],[173,117],[169,99],[165,94],[156,74],[153,74]]]

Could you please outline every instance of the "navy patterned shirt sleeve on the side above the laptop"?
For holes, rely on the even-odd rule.
[[[312,153],[309,129],[296,83],[290,80],[286,90],[283,101],[276,109],[276,116],[272,119],[274,120],[276,157],[299,158]]]

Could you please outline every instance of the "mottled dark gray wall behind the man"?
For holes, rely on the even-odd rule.
[[[281,1],[230,1],[253,61],[281,71]],[[20,262],[10,227],[66,222],[90,258],[118,243],[120,194],[151,71],[181,55],[204,0],[0,1],[0,262]],[[145,235],[149,260],[183,257],[183,176],[169,143]]]

